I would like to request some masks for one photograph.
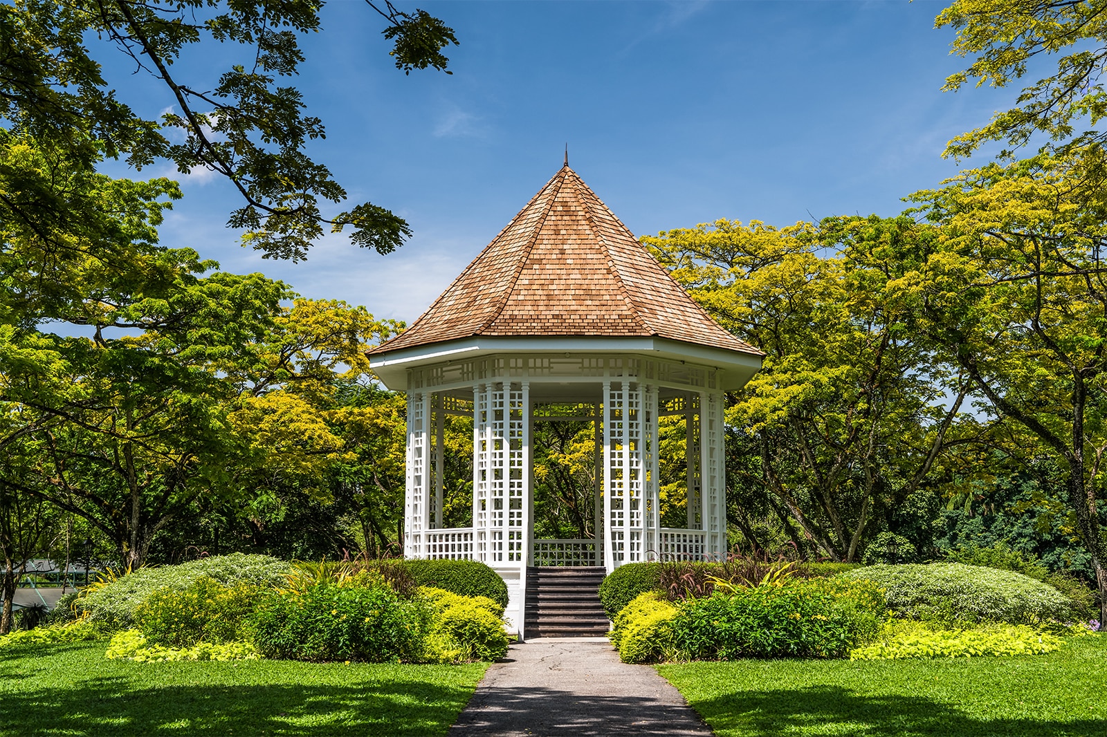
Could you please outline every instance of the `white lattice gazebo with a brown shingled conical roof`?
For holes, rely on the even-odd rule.
[[[407,393],[404,556],[490,565],[521,634],[528,567],[600,573],[724,553],[724,393],[762,355],[693,302],[566,162],[411,328],[370,351],[385,386]],[[465,528],[443,527],[451,415],[473,419]],[[666,415],[686,419],[682,528],[659,515]],[[593,539],[534,539],[536,417],[594,423]]]

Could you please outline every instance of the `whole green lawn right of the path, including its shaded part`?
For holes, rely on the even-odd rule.
[[[720,737],[1107,735],[1107,635],[1047,655],[658,669]]]

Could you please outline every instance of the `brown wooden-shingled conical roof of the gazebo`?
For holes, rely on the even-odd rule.
[[[761,355],[693,302],[568,164],[370,354],[474,335],[659,336]]]

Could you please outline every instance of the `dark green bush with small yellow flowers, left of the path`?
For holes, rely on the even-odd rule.
[[[250,619],[267,657],[299,661],[412,662],[423,653],[434,609],[380,585],[313,585],[272,593]]]

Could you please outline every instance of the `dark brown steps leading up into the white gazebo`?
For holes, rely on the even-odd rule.
[[[610,622],[597,595],[603,574],[602,568],[528,568],[524,639],[607,635]]]

